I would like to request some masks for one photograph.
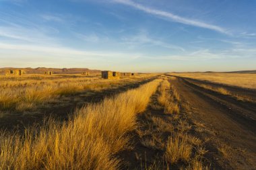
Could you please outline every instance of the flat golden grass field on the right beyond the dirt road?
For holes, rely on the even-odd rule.
[[[203,81],[212,81],[225,85],[233,85],[249,89],[256,89],[256,74],[239,73],[170,73],[180,77],[188,77]]]

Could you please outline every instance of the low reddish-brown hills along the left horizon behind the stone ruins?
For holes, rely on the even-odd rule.
[[[87,68],[71,68],[71,69],[56,69],[56,68],[45,68],[45,67],[38,67],[38,68],[13,68],[13,67],[5,67],[5,68],[0,68],[0,74],[3,75],[5,74],[5,70],[11,70],[11,69],[22,69],[25,71],[26,74],[42,74],[45,71],[53,71],[54,74],[77,74],[77,73],[82,73],[85,71],[89,71],[90,73],[100,73],[100,70],[90,70]]]

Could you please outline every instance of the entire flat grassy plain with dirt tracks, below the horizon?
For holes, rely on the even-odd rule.
[[[256,169],[255,73],[0,75],[0,169]]]

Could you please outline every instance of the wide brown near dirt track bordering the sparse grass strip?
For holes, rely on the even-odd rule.
[[[193,108],[191,115],[214,132],[211,140],[225,141],[231,147],[228,167],[256,169],[255,105],[251,103],[250,107],[242,101],[203,89],[185,78],[177,77],[172,84],[182,101]]]

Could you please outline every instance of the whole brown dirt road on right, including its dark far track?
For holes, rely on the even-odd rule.
[[[193,81],[196,80],[177,77],[172,84],[183,103],[189,105],[191,119],[205,125],[207,133],[199,135],[207,140],[209,161],[223,169],[256,169],[256,104],[203,89]],[[238,87],[229,90],[255,97],[255,91]],[[223,158],[218,156],[220,151]]]

